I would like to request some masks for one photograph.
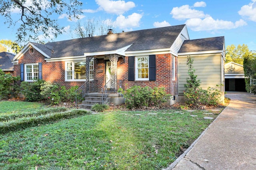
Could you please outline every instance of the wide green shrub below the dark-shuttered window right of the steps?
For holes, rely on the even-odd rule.
[[[124,94],[126,107],[128,109],[149,107],[150,105],[160,105],[162,102],[166,102],[170,95],[167,95],[164,91],[164,87],[140,87],[133,86],[126,91],[119,89],[119,92]]]

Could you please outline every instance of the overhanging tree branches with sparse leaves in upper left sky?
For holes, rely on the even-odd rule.
[[[69,20],[78,19],[82,10],[79,0],[1,0],[0,15],[5,18],[4,24],[18,26],[16,37],[18,42],[38,40],[39,35],[50,38],[49,34],[57,37],[62,34],[63,27],[59,26],[54,14],[63,15]],[[12,14],[19,14],[18,20],[13,20]]]

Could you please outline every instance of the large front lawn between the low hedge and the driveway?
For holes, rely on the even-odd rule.
[[[213,121],[174,112],[110,111],[0,134],[0,169],[161,170]]]

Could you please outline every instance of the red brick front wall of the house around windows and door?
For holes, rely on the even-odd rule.
[[[123,80],[123,88],[128,89],[134,85],[142,87],[164,87],[166,92],[171,95],[178,95],[178,60],[175,57],[175,81],[172,81],[172,55],[159,54],[156,55],[156,81],[128,81],[128,57],[125,57],[125,62],[122,57],[118,58],[117,63],[117,79]],[[39,63],[42,62],[42,78],[45,81],[59,83],[67,88],[78,85],[81,86],[84,81],[65,81],[65,61],[46,62],[44,56],[34,49],[31,53],[28,50],[19,59],[19,64],[14,65],[14,76],[20,76],[20,64]],[[98,63],[97,63],[98,62]],[[25,76],[24,76],[25,77]],[[100,89],[105,85],[105,60],[94,60],[94,80],[95,87]],[[119,81],[118,81],[119,83]]]

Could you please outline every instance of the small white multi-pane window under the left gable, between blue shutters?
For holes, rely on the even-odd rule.
[[[38,79],[38,63],[25,64],[25,81]]]

